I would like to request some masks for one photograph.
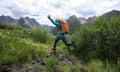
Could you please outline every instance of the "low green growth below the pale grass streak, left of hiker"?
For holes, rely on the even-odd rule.
[[[33,42],[11,36],[0,39],[2,49],[0,49],[0,64],[10,64],[18,61],[31,61],[34,56],[42,59],[45,52],[40,49],[42,46],[35,46]]]

